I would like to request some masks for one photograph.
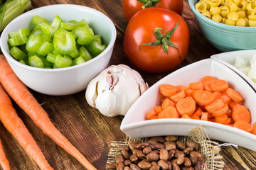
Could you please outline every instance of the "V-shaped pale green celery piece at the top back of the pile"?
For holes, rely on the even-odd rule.
[[[47,23],[41,23],[40,26],[44,34],[53,36],[55,31],[60,28],[61,23],[62,19],[59,16],[55,16],[53,18],[53,22],[50,25],[48,25]]]

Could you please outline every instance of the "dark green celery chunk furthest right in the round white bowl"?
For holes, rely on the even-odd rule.
[[[90,51],[93,57],[100,55],[105,49],[107,45],[102,45],[102,40],[99,35],[95,35],[94,40],[87,46],[87,49]]]

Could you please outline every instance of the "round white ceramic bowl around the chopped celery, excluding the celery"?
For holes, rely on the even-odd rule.
[[[49,21],[53,21],[55,15],[60,16],[63,21],[85,19],[95,34],[102,35],[107,48],[92,60],[73,67],[40,69],[21,64],[9,55],[8,34],[20,28],[31,28],[31,18],[35,15],[43,16]],[[100,11],[86,6],[59,4],[35,8],[15,18],[1,33],[0,46],[11,68],[26,86],[42,94],[68,95],[86,89],[90,80],[107,67],[116,36],[114,23]]]

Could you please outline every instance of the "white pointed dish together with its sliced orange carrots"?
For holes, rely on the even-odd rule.
[[[225,64],[206,59],[151,86],[129,109],[120,128],[138,138],[188,136],[202,125],[210,139],[256,151],[255,101],[255,91],[242,77]]]

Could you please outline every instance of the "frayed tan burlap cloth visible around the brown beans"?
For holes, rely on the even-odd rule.
[[[203,154],[205,157],[204,161],[202,162],[202,169],[223,169],[225,163],[223,161],[223,157],[220,154],[220,150],[223,145],[219,145],[218,142],[211,141],[206,134],[206,131],[203,130],[202,126],[191,130],[189,134],[190,136],[178,136],[178,141],[186,142],[187,140],[193,140],[200,145],[200,149],[198,152]],[[120,152],[117,151],[117,147],[119,147],[120,145],[128,145],[128,142],[130,140],[141,140],[142,142],[145,142],[149,139],[132,139],[131,137],[127,137],[125,141],[112,141],[112,143],[110,144],[110,152],[107,157],[107,164],[110,162],[115,162],[115,157],[117,156],[117,154],[120,154]]]

